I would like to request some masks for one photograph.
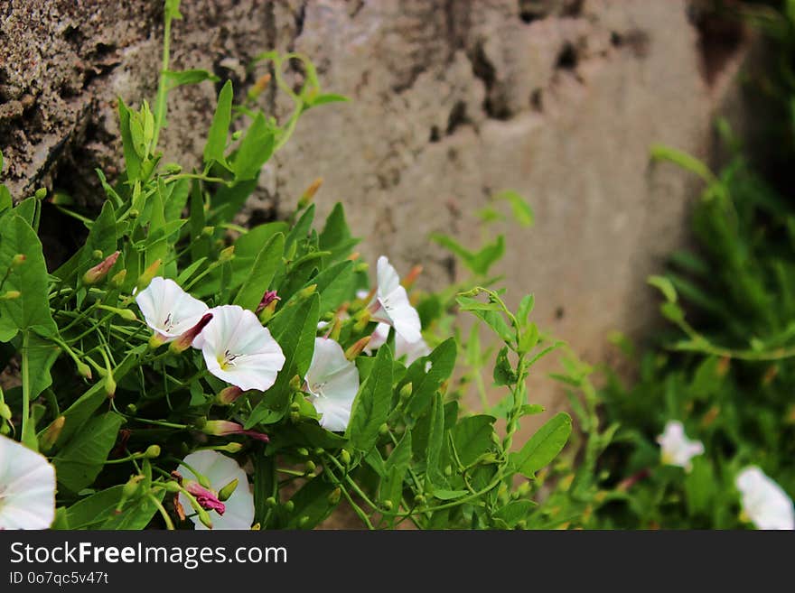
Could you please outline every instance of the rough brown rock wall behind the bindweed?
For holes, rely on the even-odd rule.
[[[14,195],[42,184],[100,195],[93,168],[112,177],[120,162],[115,98],[154,97],[158,4],[0,2],[0,150]],[[182,14],[175,69],[210,69],[242,95],[266,71],[246,69],[259,52],[302,51],[325,89],[352,99],[304,116],[248,218],[284,213],[322,176],[321,214],[343,201],[369,261],[424,264],[433,287],[462,271],[428,235],[477,246],[475,209],[518,190],[537,226],[496,229],[509,301],[534,292],[539,323],[593,360],[610,330],[653,319],[644,279],[687,236],[698,186],[651,166],[648,148],[710,157],[747,46],[686,0],[184,0]],[[218,88],[173,93],[167,161],[201,154]],[[263,105],[284,115],[272,91]]]

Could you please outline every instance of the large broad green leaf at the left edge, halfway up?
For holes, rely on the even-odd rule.
[[[25,256],[14,265],[14,255]],[[3,292],[18,291],[16,299],[0,300],[0,342],[7,342],[17,330],[33,330],[43,337],[58,329],[50,314],[50,280],[44,264],[42,243],[25,220],[15,214],[0,218],[0,278],[8,275]]]

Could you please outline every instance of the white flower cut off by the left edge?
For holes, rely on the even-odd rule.
[[[55,518],[55,468],[0,436],[0,530],[47,529]]]

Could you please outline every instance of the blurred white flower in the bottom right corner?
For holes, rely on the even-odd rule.
[[[792,500],[762,469],[744,468],[734,484],[742,495],[743,514],[757,529],[795,529]]]

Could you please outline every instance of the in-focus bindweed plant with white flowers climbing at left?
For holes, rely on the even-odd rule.
[[[3,366],[20,369],[0,390],[0,528],[304,529],[341,501],[369,528],[528,525],[535,503],[517,477],[535,477],[571,431],[560,413],[513,447],[541,412],[528,370],[554,347],[528,321],[532,298],[511,311],[479,287],[443,302],[386,257],[371,282],[340,204],[313,227],[319,183],[289,222],[233,224],[301,114],[344,97],[323,93],[304,57],[263,54],[295,102],[287,121],[257,108],[267,79],[239,103],[227,81],[201,169],[162,162],[168,92],[218,81],[169,69],[178,5],[165,3],[154,107],[119,99],[125,167],[115,182],[99,173],[101,211],[51,199],[84,245],[48,272],[46,192],[14,206],[0,189],[0,342]],[[291,60],[298,90],[283,78]],[[454,305],[503,344],[499,410],[459,405]]]

